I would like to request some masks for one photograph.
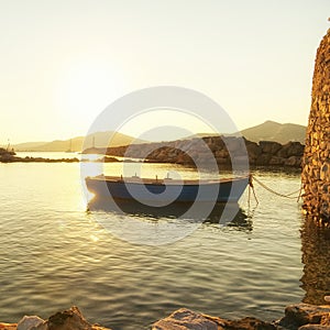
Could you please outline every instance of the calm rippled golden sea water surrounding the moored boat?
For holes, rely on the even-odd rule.
[[[106,166],[106,172],[120,174],[118,164]],[[145,172],[162,176],[168,169],[194,177],[193,169],[161,164]],[[300,186],[295,174],[255,176],[284,194]],[[327,233],[304,226],[296,200],[257,184],[260,205],[252,199],[249,208],[246,191],[230,226],[219,226],[213,217],[173,243],[147,245],[130,243],[100,226],[106,219],[123,232],[145,237],[125,226],[124,216],[88,211],[79,164],[0,164],[0,183],[1,321],[24,315],[47,318],[73,305],[89,321],[116,330],[147,329],[179,307],[272,320],[288,304],[319,302],[329,285]],[[129,218],[156,229],[168,220],[139,212]],[[170,218],[180,228],[178,221]]]

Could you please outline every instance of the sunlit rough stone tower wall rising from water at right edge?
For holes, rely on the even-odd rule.
[[[330,222],[330,30],[316,56],[301,180],[307,215]]]

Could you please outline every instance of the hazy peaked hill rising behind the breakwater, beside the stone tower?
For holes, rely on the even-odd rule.
[[[264,123],[243,130],[241,134],[253,142],[275,141],[285,144],[289,141],[297,141],[305,144],[306,127],[293,123],[278,123],[265,121]]]

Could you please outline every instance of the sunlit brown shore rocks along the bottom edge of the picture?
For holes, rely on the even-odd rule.
[[[326,297],[326,301],[330,297]],[[134,319],[132,318],[132,322]],[[152,330],[330,330],[330,305],[315,306],[297,304],[285,309],[280,320],[267,322],[246,317],[227,320],[187,308],[180,308],[168,317],[156,321]],[[78,307],[56,312],[47,320],[36,316],[25,316],[19,323],[0,323],[0,330],[111,330],[99,324],[90,324]],[[142,330],[142,329],[140,329]]]

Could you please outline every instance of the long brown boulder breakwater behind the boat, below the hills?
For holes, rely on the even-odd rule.
[[[209,162],[209,151],[212,152],[220,168],[222,166],[230,167],[232,157],[235,161],[241,160],[243,162],[246,155],[252,166],[288,166],[299,168],[304,154],[304,145],[299,142],[288,142],[283,145],[271,141],[255,143],[235,136],[208,136],[202,138],[202,140],[177,140],[108,147],[107,155],[140,158],[145,162],[194,166],[194,161],[196,160],[200,164],[207,164]]]

